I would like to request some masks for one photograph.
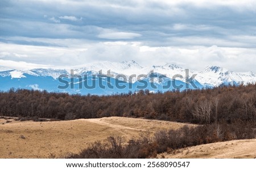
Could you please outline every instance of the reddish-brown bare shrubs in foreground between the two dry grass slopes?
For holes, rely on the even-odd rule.
[[[156,132],[154,138],[144,136],[141,139],[131,139],[128,143],[122,143],[120,137],[109,137],[105,143],[93,143],[80,154],[69,155],[67,158],[148,158],[189,146],[252,138],[255,138],[255,132],[251,125],[241,122],[190,128],[184,126],[179,130]]]

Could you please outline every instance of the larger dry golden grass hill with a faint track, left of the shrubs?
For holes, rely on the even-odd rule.
[[[56,122],[9,121],[0,119],[0,158],[64,157],[110,135],[138,138],[141,134],[150,135],[158,130],[187,125],[123,117]]]

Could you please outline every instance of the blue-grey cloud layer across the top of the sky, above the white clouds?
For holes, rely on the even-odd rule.
[[[27,3],[26,3],[27,2]],[[29,2],[29,3],[28,3]],[[226,40],[255,34],[254,1],[7,1],[0,31],[7,36],[135,39],[164,45],[172,38]],[[10,10],[8,10],[10,9]],[[11,13],[10,11],[16,11]],[[22,19],[20,19],[22,16]],[[79,17],[77,17],[79,16]],[[78,21],[79,22],[74,22]],[[94,30],[88,30],[92,27]],[[19,28],[19,29],[17,29]],[[102,32],[97,30],[114,30]],[[100,38],[100,39],[99,39]],[[150,44],[151,43],[151,44]],[[247,42],[250,46],[251,42]],[[203,44],[200,45],[209,45]],[[210,45],[221,46],[220,43]],[[244,47],[244,46],[243,46]]]

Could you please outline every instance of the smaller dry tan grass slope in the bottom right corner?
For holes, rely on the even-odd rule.
[[[202,144],[160,154],[159,158],[256,158],[256,139]]]

